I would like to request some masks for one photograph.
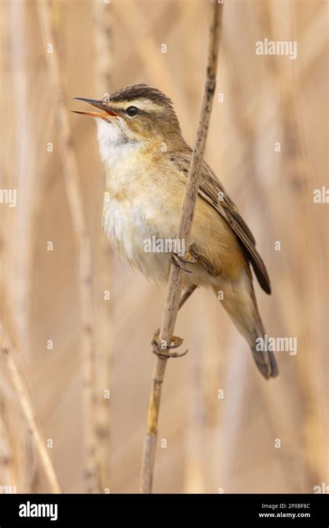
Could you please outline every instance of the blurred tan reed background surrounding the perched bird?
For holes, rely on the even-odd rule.
[[[0,204],[1,320],[66,493],[137,490],[165,300],[105,243],[96,127],[69,113],[72,97],[149,83],[192,144],[209,14],[205,0],[0,0],[0,188],[17,189],[17,207]],[[264,38],[296,40],[297,58],[256,55]],[[272,296],[255,283],[267,333],[297,337],[298,352],[278,353],[280,379],[266,383],[219,301],[197,291],[177,324],[189,353],[167,367],[155,492],[329,483],[328,204],[313,201],[328,187],[327,47],[326,1],[226,1],[205,158],[267,263]],[[0,387],[0,484],[47,492],[3,355]]]

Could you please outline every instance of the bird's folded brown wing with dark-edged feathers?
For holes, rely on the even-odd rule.
[[[191,154],[179,154],[175,161],[180,168],[180,172],[187,178]],[[244,219],[239,214],[237,207],[221,185],[221,182],[219,182],[210,166],[205,162],[203,162],[199,195],[203,200],[214,207],[223,218],[225,218],[226,222],[230,225],[237,235],[237,238],[242,243],[244,252],[253,266],[253,271],[258,278],[260,286],[267,292],[267,294],[270,294],[271,283],[269,275],[262,258],[255,248],[255,238],[248,225],[246,225]]]

